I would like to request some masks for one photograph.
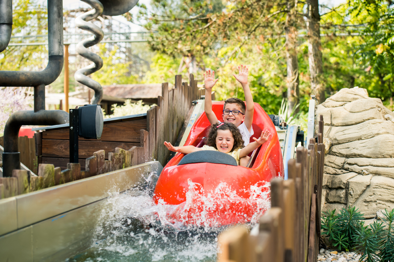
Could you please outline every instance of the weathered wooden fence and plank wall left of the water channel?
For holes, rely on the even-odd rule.
[[[182,82],[182,76],[175,76],[175,88],[169,90],[168,83],[163,83],[157,106],[146,114],[106,120],[99,140],[80,138],[79,163],[68,163],[68,126],[36,133],[38,176],[13,170],[13,177],[0,180],[0,199],[152,160],[164,166],[170,157],[164,141],[175,144],[190,118],[192,101],[199,99],[201,92],[193,74],[190,85]]]

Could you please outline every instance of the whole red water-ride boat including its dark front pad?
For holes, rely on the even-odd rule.
[[[223,105],[223,101],[212,105],[219,121],[223,121]],[[202,147],[209,127],[210,123],[203,112],[184,145]],[[259,137],[262,130],[268,130],[271,136],[251,153],[248,167],[237,166],[234,158],[218,151],[204,150],[188,155],[177,153],[158,178],[153,196],[156,204],[178,205],[170,214],[171,218],[188,224],[199,224],[193,213],[198,213],[199,216],[205,213],[204,221],[208,221],[209,225],[251,221],[256,213],[256,199],[251,199],[256,194],[253,188],[263,186],[265,189],[262,191],[267,191],[266,182],[274,177],[284,176],[281,146],[275,125],[258,103],[255,103],[252,127],[252,137]],[[254,141],[252,137],[250,142]],[[218,190],[218,187],[221,189]],[[193,194],[190,194],[190,190]],[[204,207],[207,205],[207,197],[216,202],[209,204],[209,208]]]

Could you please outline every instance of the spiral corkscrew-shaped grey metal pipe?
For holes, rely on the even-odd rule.
[[[95,105],[95,104],[99,104],[102,99],[102,95],[103,95],[102,87],[98,82],[94,81],[93,79],[87,76],[102,68],[103,61],[99,55],[87,50],[87,48],[90,46],[94,46],[95,44],[98,44],[104,37],[104,32],[98,26],[94,25],[93,23],[89,23],[87,21],[90,21],[101,15],[103,11],[103,6],[101,2],[99,2],[98,0],[81,0],[81,1],[89,4],[94,9],[75,18],[75,25],[78,28],[81,28],[82,30],[86,30],[93,33],[94,36],[79,42],[76,45],[76,52],[82,55],[83,57],[85,57],[86,59],[93,61],[94,64],[79,69],[78,71],[75,72],[74,77],[76,81],[78,81],[83,85],[86,85],[87,87],[95,91],[95,95],[91,102],[92,105]]]

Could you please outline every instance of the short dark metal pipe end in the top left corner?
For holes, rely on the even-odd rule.
[[[12,31],[12,0],[0,1],[0,53],[11,40]]]

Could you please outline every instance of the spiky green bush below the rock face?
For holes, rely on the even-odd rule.
[[[358,209],[357,209],[358,210]],[[323,212],[322,230],[333,247],[362,253],[360,261],[394,262],[394,209],[383,212],[382,221],[365,226],[363,214],[353,208]]]

